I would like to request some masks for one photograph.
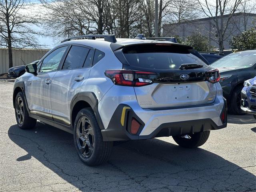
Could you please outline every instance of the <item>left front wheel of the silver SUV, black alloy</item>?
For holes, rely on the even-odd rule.
[[[36,119],[28,115],[26,104],[24,102],[24,95],[18,92],[15,99],[15,116],[16,122],[21,129],[32,129],[36,126]]]

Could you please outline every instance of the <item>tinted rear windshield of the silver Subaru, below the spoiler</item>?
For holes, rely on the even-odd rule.
[[[136,45],[123,48],[123,53],[130,66],[139,68],[175,70],[182,64],[207,66],[186,48],[176,45]]]

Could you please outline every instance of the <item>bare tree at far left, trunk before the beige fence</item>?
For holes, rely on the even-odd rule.
[[[38,47],[30,26],[38,17],[28,12],[32,4],[25,0],[0,0],[0,46],[8,48],[9,67],[12,67],[12,48]]]

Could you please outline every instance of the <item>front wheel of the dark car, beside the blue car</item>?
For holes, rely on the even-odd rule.
[[[243,86],[238,86],[234,89],[231,101],[230,101],[230,112],[235,115],[244,115],[245,113],[240,108],[241,106],[241,91]]]

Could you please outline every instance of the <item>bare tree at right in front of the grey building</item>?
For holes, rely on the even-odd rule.
[[[215,4],[210,4],[207,0],[198,0],[198,3],[204,14],[214,22],[216,38],[218,40],[213,40],[218,43],[219,51],[222,53],[224,50],[224,40],[227,38],[226,32],[241,0],[216,0]]]

